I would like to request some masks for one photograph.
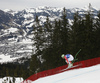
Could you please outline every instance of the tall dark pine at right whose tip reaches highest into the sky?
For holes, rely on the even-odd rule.
[[[93,23],[93,17],[92,14],[90,14],[90,12],[88,12],[85,15],[85,48],[84,48],[84,52],[86,54],[85,55],[85,59],[89,59],[92,58],[92,56],[94,56],[94,41],[95,41],[95,37],[94,37],[94,23]]]

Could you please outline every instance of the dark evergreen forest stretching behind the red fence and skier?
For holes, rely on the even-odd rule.
[[[52,21],[47,16],[44,25],[37,15],[32,29],[35,48],[31,59],[22,65],[1,64],[0,77],[22,76],[26,79],[34,73],[66,64],[61,54],[71,53],[75,57],[79,49],[82,51],[77,56],[78,61],[99,57],[100,12],[97,17],[93,12],[90,7],[82,15],[76,11],[70,23],[64,8],[61,18]]]

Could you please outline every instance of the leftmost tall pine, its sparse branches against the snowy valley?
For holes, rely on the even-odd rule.
[[[37,51],[41,51],[41,48],[42,48],[42,44],[43,44],[43,28],[42,26],[40,25],[40,21],[38,19],[38,16],[36,16],[36,19],[35,19],[36,23],[34,24],[33,26],[33,32],[34,32],[34,37],[33,37],[33,41],[34,41],[34,44],[36,46],[36,50],[35,52]]]

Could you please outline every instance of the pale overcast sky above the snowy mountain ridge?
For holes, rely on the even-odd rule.
[[[0,0],[0,9],[22,10],[38,6],[82,8],[89,3],[100,9],[100,0]]]

